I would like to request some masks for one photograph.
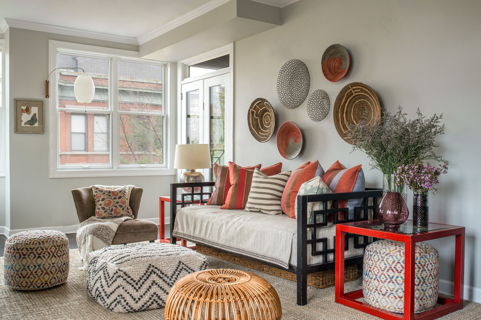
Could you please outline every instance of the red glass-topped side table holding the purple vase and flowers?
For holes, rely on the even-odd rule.
[[[344,242],[345,234],[375,237],[404,242],[404,314],[390,312],[370,304],[358,301],[363,297],[362,289],[344,293]],[[454,298],[439,296],[440,304],[431,310],[414,315],[414,259],[415,244],[419,241],[455,236],[456,250],[454,256]],[[341,250],[341,248],[343,250]],[[403,224],[397,231],[384,230],[378,220],[336,224],[336,287],[335,297],[339,304],[347,305],[362,312],[382,319],[436,319],[450,312],[463,308],[464,285],[464,227],[448,224],[429,224],[423,229],[412,225],[412,221]]]

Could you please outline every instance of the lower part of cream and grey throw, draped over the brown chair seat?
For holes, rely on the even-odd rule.
[[[79,269],[87,270],[89,254],[95,250],[110,246],[119,225],[129,219],[132,218],[99,219],[90,217],[82,222],[77,229],[77,247],[79,248],[84,266]]]

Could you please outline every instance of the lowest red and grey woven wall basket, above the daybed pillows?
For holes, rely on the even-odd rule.
[[[277,150],[287,160],[294,159],[301,152],[303,139],[301,130],[292,121],[284,122],[277,130]]]

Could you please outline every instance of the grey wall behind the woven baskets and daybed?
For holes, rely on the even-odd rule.
[[[444,113],[446,134],[439,138],[437,152],[450,161],[449,173],[440,177],[439,192],[429,196],[430,221],[466,227],[464,279],[471,299],[478,301],[480,13],[481,1],[471,0],[300,0],[284,8],[281,27],[236,42],[234,64],[234,157],[241,165],[282,161],[285,170],[293,170],[308,160],[319,160],[327,169],[339,159],[349,167],[361,163],[367,185],[381,187],[380,172],[369,170],[366,156],[350,153],[351,145],[337,134],[332,109],[339,91],[360,81],[376,91],[387,111],[396,112],[400,105],[409,117],[417,108],[426,116]],[[343,80],[332,83],[322,74],[321,57],[335,43],[347,48],[351,66]],[[277,75],[293,58],[309,68],[309,95],[317,89],[329,95],[331,111],[321,122],[310,120],[307,100],[288,110],[277,98]],[[279,155],[275,135],[264,144],[251,136],[247,110],[258,97],[273,105],[276,130],[288,120],[301,128],[305,143],[296,159]],[[453,242],[433,242],[441,253],[445,287],[452,280]]]

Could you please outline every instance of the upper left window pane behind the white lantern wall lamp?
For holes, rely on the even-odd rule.
[[[108,59],[59,54],[57,67],[82,68],[87,75],[92,77],[95,85],[95,96],[92,102],[79,103],[73,93],[73,84],[77,76],[83,74],[82,70],[59,69],[54,71],[58,79],[59,108],[108,110]],[[51,77],[53,76],[52,74]]]

